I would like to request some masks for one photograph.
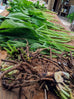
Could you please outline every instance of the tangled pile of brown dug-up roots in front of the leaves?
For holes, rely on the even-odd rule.
[[[19,88],[18,99],[22,99],[21,95],[32,99],[40,91],[45,92],[45,99],[48,99],[50,91],[57,99],[73,99],[74,53],[55,54],[57,60],[54,61],[51,49],[50,58],[40,53],[43,50],[47,49],[30,51],[28,42],[20,49],[14,50],[13,46],[9,46],[10,54],[7,59],[2,59],[0,79],[3,87],[9,91]]]

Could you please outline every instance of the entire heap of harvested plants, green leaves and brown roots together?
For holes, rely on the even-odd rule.
[[[51,89],[61,99],[72,99],[74,47],[64,44],[71,41],[67,31],[48,21],[53,16],[39,2],[13,0],[9,5],[9,15],[0,16],[0,46],[8,53],[2,60],[2,85],[8,90],[19,88],[18,99],[23,91],[26,99],[25,92],[32,99],[36,91]]]

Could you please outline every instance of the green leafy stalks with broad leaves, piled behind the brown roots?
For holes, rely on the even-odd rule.
[[[0,46],[7,47],[7,43],[15,47],[24,47],[26,39],[30,50],[48,48],[59,51],[70,51],[72,46],[64,44],[71,38],[61,31],[61,27],[47,21],[42,8],[36,7],[27,0],[13,0],[10,2],[10,14],[0,16]],[[52,16],[51,16],[52,17]]]

